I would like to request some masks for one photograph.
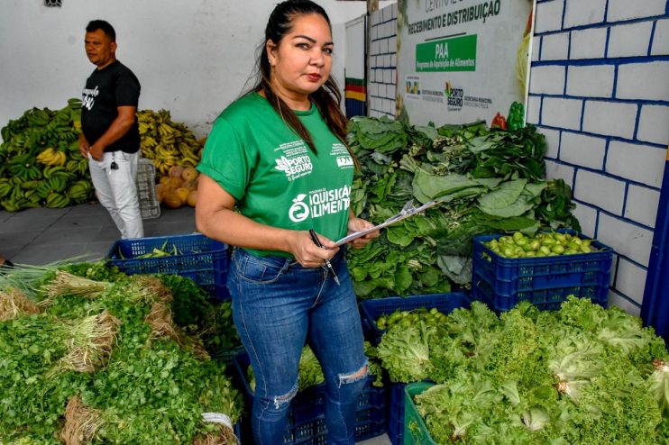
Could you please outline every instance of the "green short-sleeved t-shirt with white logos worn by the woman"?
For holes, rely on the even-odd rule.
[[[347,232],[353,159],[314,104],[295,114],[318,154],[267,99],[244,95],[218,116],[197,169],[234,196],[239,211],[261,224],[307,231],[336,241]],[[257,256],[288,252],[251,250]]]

